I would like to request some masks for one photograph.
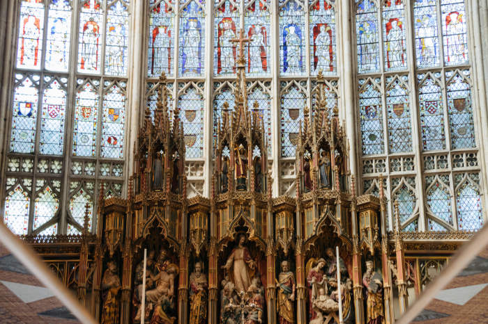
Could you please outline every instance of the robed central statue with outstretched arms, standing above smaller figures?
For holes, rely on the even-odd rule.
[[[238,237],[238,245],[232,250],[223,269],[229,271],[231,282],[237,291],[247,291],[251,285],[251,270],[254,270],[254,261],[251,258],[249,249],[244,246],[247,237],[241,235]]]

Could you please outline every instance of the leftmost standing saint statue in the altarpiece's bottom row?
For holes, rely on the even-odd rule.
[[[117,275],[117,264],[109,261],[102,279],[102,324],[118,324],[120,315],[119,290],[121,280]]]

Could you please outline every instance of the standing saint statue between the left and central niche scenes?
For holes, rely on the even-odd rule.
[[[204,324],[207,318],[208,282],[201,273],[201,263],[195,264],[195,272],[190,275],[190,324]]]

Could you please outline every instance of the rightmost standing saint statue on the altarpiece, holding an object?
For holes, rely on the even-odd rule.
[[[366,300],[366,324],[384,324],[383,282],[381,275],[373,270],[373,262],[366,261],[366,272],[363,275],[363,292]],[[372,283],[374,282],[375,285]],[[372,287],[374,286],[374,287]]]

